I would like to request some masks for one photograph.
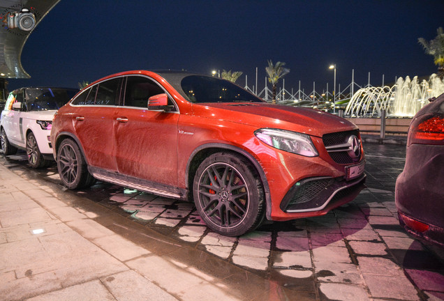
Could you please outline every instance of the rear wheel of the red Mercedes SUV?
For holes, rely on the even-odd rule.
[[[57,169],[61,182],[71,190],[87,187],[93,182],[82,151],[71,139],[61,141],[57,150]]]

